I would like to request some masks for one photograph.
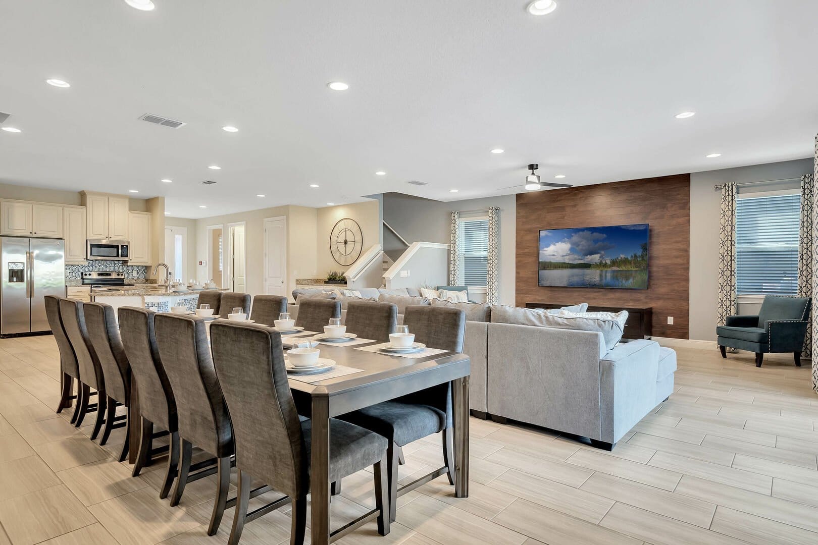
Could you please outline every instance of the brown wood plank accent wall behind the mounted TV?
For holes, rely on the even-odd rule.
[[[648,289],[537,285],[539,230],[650,225]],[[651,306],[656,337],[688,338],[690,174],[517,194],[516,304]],[[715,303],[714,303],[715,304]],[[667,317],[673,316],[673,325]]]

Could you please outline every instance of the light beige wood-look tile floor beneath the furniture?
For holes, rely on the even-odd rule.
[[[807,365],[677,353],[676,392],[612,453],[473,418],[470,498],[453,498],[441,477],[400,499],[389,536],[372,523],[339,543],[818,543],[818,395]],[[123,430],[100,448],[90,426],[70,426],[71,410],[54,413],[58,357],[52,337],[0,339],[0,545],[227,543],[232,509],[218,534],[205,532],[212,479],[169,507],[158,495],[162,462],[134,479],[113,458]],[[407,445],[404,482],[441,465],[439,441]],[[343,490],[335,527],[373,506],[371,473]],[[245,526],[241,543],[289,534],[286,509]]]

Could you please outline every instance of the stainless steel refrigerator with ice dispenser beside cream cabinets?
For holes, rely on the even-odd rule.
[[[65,243],[0,237],[0,335],[51,331],[43,297],[65,297]]]

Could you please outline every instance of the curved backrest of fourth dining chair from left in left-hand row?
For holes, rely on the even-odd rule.
[[[139,391],[139,413],[164,430],[178,431],[176,400],[156,346],[155,316],[136,306],[120,307],[122,346]]]

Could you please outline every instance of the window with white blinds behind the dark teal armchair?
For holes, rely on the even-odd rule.
[[[798,292],[798,194],[741,199],[735,207],[738,295]]]

